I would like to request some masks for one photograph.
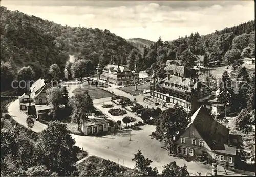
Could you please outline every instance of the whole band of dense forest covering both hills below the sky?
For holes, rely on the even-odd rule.
[[[18,69],[28,65],[35,75],[43,77],[56,63],[63,75],[69,55],[91,60],[93,68],[99,58],[104,66],[116,56],[119,64],[131,70],[137,61],[140,70],[157,70],[158,75],[166,60],[181,60],[191,67],[194,55],[205,55],[208,65],[230,63],[255,56],[254,29],[254,21],[249,21],[204,36],[195,32],[173,41],[164,42],[161,37],[157,42],[140,38],[127,41],[107,29],[61,26],[1,7],[1,80],[15,78]]]

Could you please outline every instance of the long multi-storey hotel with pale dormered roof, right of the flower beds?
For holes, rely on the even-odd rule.
[[[177,103],[187,111],[195,112],[200,106],[198,100],[211,94],[210,88],[199,81],[197,75],[193,77],[193,72],[185,66],[168,65],[165,70],[167,77],[164,79],[156,81],[156,75],[152,75],[150,91],[153,99],[170,104]]]

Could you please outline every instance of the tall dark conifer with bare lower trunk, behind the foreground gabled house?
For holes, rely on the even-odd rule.
[[[231,79],[227,71],[224,71],[219,82],[219,95],[217,101],[225,106],[225,119],[227,118],[227,104],[231,104],[234,91],[231,85]]]

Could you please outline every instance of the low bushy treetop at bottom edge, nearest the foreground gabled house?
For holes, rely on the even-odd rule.
[[[180,167],[176,164],[175,161],[170,162],[169,164],[163,166],[164,170],[162,176],[187,176],[189,172],[187,171],[187,166],[184,165]]]

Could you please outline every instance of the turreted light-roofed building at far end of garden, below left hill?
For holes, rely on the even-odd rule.
[[[98,64],[97,74],[98,79],[110,82],[116,85],[128,85],[134,84],[139,79],[139,71],[137,64],[135,64],[134,70],[130,71],[126,66],[119,66],[119,62],[115,63],[115,60],[111,60],[111,63],[106,65],[103,70]]]

